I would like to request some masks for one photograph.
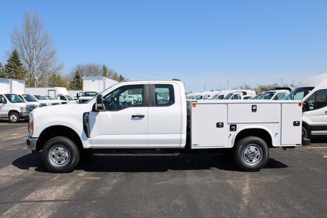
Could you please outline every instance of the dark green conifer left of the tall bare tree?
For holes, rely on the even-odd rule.
[[[17,50],[12,51],[11,56],[5,65],[5,76],[7,78],[24,80],[26,79],[26,69],[20,62]]]

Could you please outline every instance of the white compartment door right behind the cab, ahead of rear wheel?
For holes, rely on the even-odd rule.
[[[195,107],[191,106],[192,149],[225,147],[227,127],[227,104],[195,103]]]

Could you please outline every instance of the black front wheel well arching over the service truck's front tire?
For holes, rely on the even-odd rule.
[[[56,136],[64,136],[71,139],[81,151],[83,144],[79,135],[71,128],[65,126],[52,126],[44,129],[37,139],[36,150],[40,151],[43,149],[44,144],[51,138]]]

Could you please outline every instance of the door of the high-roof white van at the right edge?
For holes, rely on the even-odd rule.
[[[303,117],[308,119],[311,134],[327,134],[327,89],[314,92],[305,103],[307,111],[303,113]]]

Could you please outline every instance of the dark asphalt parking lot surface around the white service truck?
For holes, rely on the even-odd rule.
[[[241,172],[222,154],[89,156],[50,173],[25,146],[27,123],[0,120],[0,215],[327,216],[327,139],[271,149],[260,172]]]

